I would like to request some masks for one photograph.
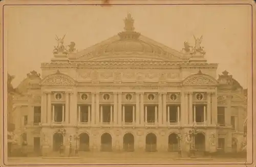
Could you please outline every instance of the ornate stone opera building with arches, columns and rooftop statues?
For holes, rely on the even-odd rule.
[[[15,96],[18,142],[47,154],[63,144],[79,151],[239,151],[246,96],[218,64],[204,58],[202,37],[176,51],[134,30],[82,51],[63,38],[50,63],[41,64]]]

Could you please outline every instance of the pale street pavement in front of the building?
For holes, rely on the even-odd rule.
[[[171,156],[172,155],[172,156]],[[83,153],[76,157],[10,157],[8,164],[50,164],[50,163],[221,163],[221,162],[239,162],[243,163],[243,158],[209,158],[197,157],[196,159],[179,159],[173,154],[149,152],[149,153]]]

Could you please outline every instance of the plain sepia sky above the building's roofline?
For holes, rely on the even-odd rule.
[[[83,50],[123,31],[129,12],[135,31],[178,51],[184,41],[194,45],[193,35],[202,35],[207,62],[219,63],[218,74],[227,70],[247,88],[251,8],[246,5],[5,6],[4,55],[15,75],[13,86],[51,61],[55,35],[66,34],[65,45],[74,41]]]

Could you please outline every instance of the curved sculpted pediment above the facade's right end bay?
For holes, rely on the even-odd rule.
[[[183,81],[183,85],[187,86],[202,86],[202,85],[217,85],[218,81],[206,74],[202,74],[201,71],[199,74],[194,74],[191,76],[188,76]]]

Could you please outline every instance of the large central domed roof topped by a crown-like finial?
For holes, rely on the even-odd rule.
[[[134,31],[134,19],[128,14],[124,31],[69,57],[73,61],[172,61],[187,62],[183,53],[168,48]],[[118,55],[118,56],[117,56]]]

